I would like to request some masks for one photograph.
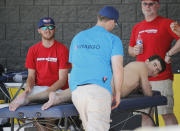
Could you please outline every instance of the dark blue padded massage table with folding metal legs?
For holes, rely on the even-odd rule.
[[[113,112],[140,112],[148,115],[155,126],[159,126],[157,106],[166,104],[166,97],[161,96],[161,94],[157,91],[153,91],[153,96],[140,95],[136,97],[121,99],[119,106],[114,109]],[[82,130],[81,127],[78,127],[73,121],[73,117],[78,116],[78,112],[73,104],[60,104],[57,106],[53,106],[45,111],[41,110],[41,106],[42,104],[23,106],[18,108],[14,112],[9,111],[8,107],[4,107],[0,109],[0,118],[11,118],[11,131],[14,131],[14,118],[28,119],[31,121],[30,124],[32,124],[33,122],[37,122],[37,118],[64,118],[65,126],[63,127],[63,129],[65,131],[68,130],[68,122],[71,123],[77,131]],[[149,114],[138,111],[139,109],[145,109],[148,107],[155,108],[155,120]],[[42,121],[40,120],[39,122],[41,123]],[[29,123],[20,125],[18,130],[20,130],[24,125],[27,124]],[[62,130],[60,125],[57,125],[56,128],[60,131]]]

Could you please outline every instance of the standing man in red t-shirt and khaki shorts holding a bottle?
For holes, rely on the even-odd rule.
[[[173,74],[170,58],[179,51],[180,39],[170,28],[170,24],[173,21],[158,16],[159,0],[141,0],[141,7],[145,20],[133,27],[128,51],[131,56],[137,58],[137,61],[145,61],[152,55],[159,55],[165,58],[167,63],[166,70],[149,80],[151,81],[152,89],[161,91],[161,94],[168,99],[167,106],[158,108],[165,124],[177,124],[177,119],[173,113]],[[177,41],[171,48],[171,43],[174,39]],[[152,125],[152,122],[148,121],[147,116],[142,115],[142,126],[145,125]]]

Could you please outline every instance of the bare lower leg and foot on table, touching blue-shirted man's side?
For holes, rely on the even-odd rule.
[[[60,104],[62,102],[67,102],[71,100],[71,91],[70,89],[66,89],[60,93],[50,92],[49,93],[49,101],[46,102],[41,109],[46,110],[51,106]]]

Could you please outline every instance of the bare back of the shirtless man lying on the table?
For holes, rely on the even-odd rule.
[[[147,75],[146,75],[147,74]],[[124,81],[121,97],[141,87],[141,78],[148,79],[148,68],[144,62],[130,62],[124,67]]]

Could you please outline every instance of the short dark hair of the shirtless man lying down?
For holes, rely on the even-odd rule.
[[[160,62],[161,68],[162,68],[162,70],[159,73],[162,73],[162,72],[165,71],[166,63],[165,63],[165,61],[159,55],[152,55],[148,59],[149,59],[149,61],[153,61],[153,60],[157,59]]]

